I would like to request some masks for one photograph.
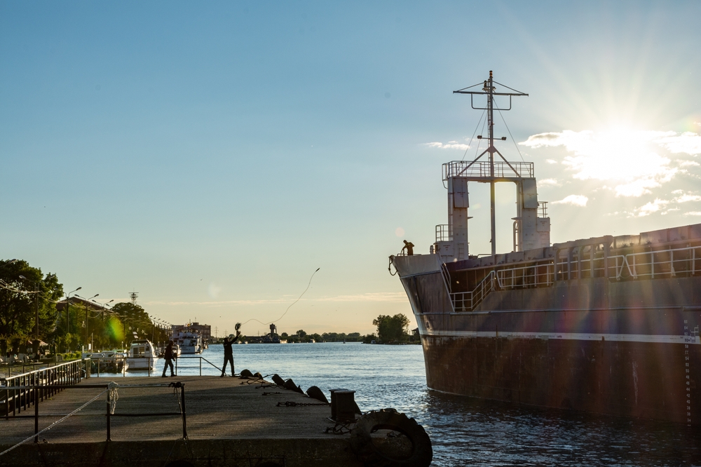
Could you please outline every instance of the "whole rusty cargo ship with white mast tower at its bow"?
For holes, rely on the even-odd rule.
[[[526,94],[491,72],[454,93],[486,111],[488,146],[474,161],[442,165],[448,224],[436,226],[428,254],[390,256],[418,324],[428,387],[701,425],[701,224],[551,245],[533,163],[507,161],[494,146],[496,96]],[[489,255],[468,250],[470,182],[491,185]],[[498,182],[514,183],[517,198],[513,247],[503,254]]]

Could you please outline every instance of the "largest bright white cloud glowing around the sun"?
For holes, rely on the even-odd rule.
[[[564,147],[562,163],[578,180],[617,182],[616,196],[638,197],[672,180],[682,167],[699,165],[672,154],[701,154],[701,135],[674,131],[572,131],[540,133],[527,147]],[[552,161],[548,159],[547,162]]]

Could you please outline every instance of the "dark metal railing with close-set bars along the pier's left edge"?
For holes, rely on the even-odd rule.
[[[83,378],[84,360],[60,363],[29,373],[0,378],[0,407],[4,416],[15,417],[29,410],[39,400],[44,400],[61,391],[62,385],[77,384]],[[27,387],[31,386],[31,389]]]

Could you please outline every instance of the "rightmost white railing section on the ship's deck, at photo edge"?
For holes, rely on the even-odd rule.
[[[694,276],[700,268],[701,246],[667,248],[625,255],[629,277],[675,277],[678,274]],[[620,277],[620,276],[618,276]]]

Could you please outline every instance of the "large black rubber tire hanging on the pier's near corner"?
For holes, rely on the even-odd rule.
[[[406,435],[411,442],[411,455],[397,459],[382,452],[370,436],[377,430],[399,431]],[[368,467],[428,467],[433,460],[433,446],[423,426],[393,409],[370,412],[360,417],[351,433],[351,447],[358,459]]]

